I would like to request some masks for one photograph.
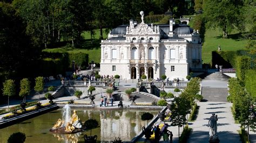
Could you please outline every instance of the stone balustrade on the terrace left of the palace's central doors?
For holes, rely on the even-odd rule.
[[[89,84],[93,87],[106,87],[106,83],[102,81],[62,81],[64,87],[88,87]]]

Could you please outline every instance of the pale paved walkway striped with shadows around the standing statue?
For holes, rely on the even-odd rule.
[[[188,142],[208,142],[208,120],[212,113],[218,115],[218,136],[220,142],[241,142],[237,130],[240,124],[234,123],[231,112],[232,103],[227,102],[198,102],[199,113],[196,121],[190,122],[192,133]]]

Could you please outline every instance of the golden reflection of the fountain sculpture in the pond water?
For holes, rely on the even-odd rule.
[[[58,141],[61,142],[70,142],[70,143],[77,143],[78,139],[82,132],[74,133],[74,134],[53,134],[54,137],[58,139]]]

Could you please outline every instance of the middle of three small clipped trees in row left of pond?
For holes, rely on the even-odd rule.
[[[30,94],[30,81],[28,78],[21,80],[21,87],[19,89],[19,96],[23,97],[23,102],[26,102],[26,96]]]

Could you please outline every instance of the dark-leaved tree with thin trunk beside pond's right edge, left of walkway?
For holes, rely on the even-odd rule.
[[[187,106],[190,104],[190,101],[188,101],[184,97],[174,97],[174,101],[170,105],[171,110],[171,125],[172,126],[178,126],[178,132],[179,127],[182,127],[184,123],[186,123],[186,115],[190,112],[190,108]]]

